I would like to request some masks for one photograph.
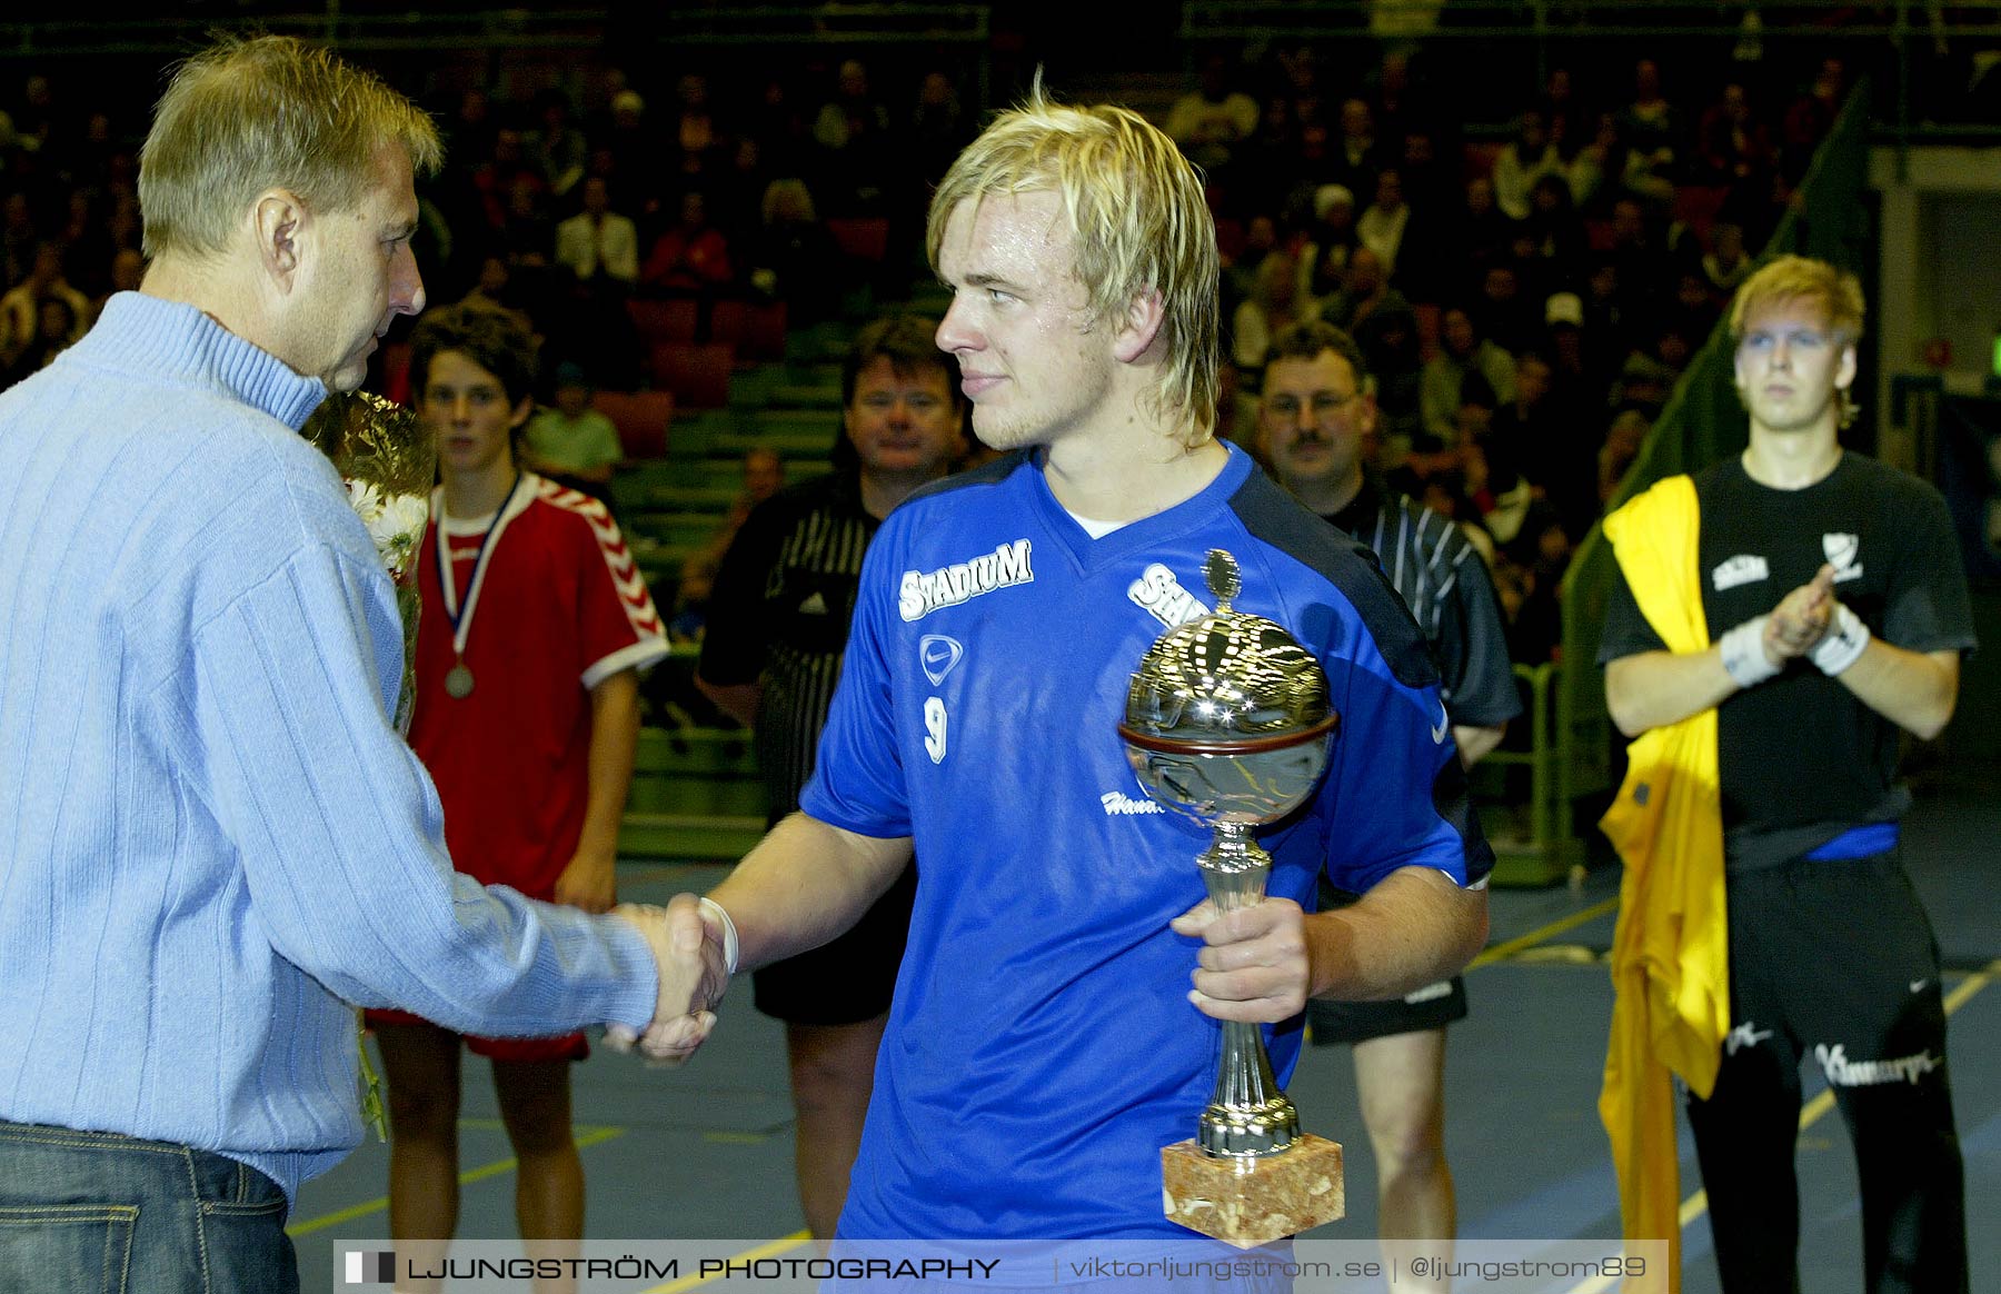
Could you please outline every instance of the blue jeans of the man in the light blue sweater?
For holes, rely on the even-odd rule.
[[[220,1154],[0,1120],[0,1290],[296,1294],[284,1214]]]

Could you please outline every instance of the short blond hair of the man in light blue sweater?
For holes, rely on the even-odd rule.
[[[388,146],[418,174],[444,158],[430,118],[372,72],[292,36],[220,36],[176,68],[140,148],[146,256],[224,250],[272,188],[354,210]]]

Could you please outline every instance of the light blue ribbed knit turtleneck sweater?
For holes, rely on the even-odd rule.
[[[0,1118],[288,1196],[360,1140],[348,1004],[504,1036],[656,992],[624,922],[452,872],[322,396],[130,292],[0,394]]]

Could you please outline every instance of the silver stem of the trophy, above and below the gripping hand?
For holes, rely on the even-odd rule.
[[[1249,824],[1219,822],[1215,844],[1195,862],[1219,912],[1249,908],[1265,898],[1271,854],[1251,836]],[[1279,1154],[1297,1138],[1299,1112],[1271,1072],[1263,1026],[1225,1020],[1217,1090],[1203,1110],[1197,1146],[1217,1160],[1255,1160]]]

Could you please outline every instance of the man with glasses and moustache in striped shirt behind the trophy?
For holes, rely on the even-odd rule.
[[[1453,520],[1365,472],[1375,418],[1363,352],[1349,334],[1307,322],[1273,340],[1259,404],[1273,472],[1307,508],[1377,550],[1431,642],[1459,758],[1471,766],[1521,714],[1501,604],[1487,564]],[[1323,882],[1321,900],[1353,896]],[[1465,1014],[1457,976],[1393,1002],[1307,1002],[1313,1042],[1355,1044],[1385,1240],[1445,1240],[1457,1230],[1445,1164],[1445,1026]]]

